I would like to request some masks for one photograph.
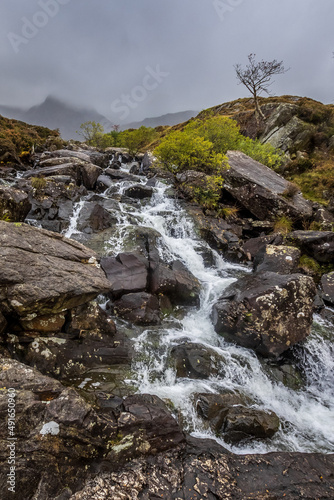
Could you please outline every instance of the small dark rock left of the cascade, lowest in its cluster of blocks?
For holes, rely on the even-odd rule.
[[[117,316],[132,321],[135,325],[160,323],[159,300],[146,292],[128,293],[112,303]]]

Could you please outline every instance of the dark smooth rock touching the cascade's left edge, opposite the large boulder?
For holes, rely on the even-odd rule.
[[[159,265],[151,276],[151,292],[167,295],[176,305],[198,305],[200,283],[181,261]]]

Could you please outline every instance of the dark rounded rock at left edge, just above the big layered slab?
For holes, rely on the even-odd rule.
[[[28,194],[13,187],[0,186],[0,219],[24,221],[31,209]]]

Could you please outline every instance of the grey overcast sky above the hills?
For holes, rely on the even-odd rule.
[[[0,104],[53,95],[113,123],[246,97],[233,65],[283,60],[275,95],[334,102],[333,0],[1,0]]]

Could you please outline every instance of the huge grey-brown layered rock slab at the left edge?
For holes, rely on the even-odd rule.
[[[0,221],[2,312],[31,321],[109,290],[96,254],[57,233]]]

